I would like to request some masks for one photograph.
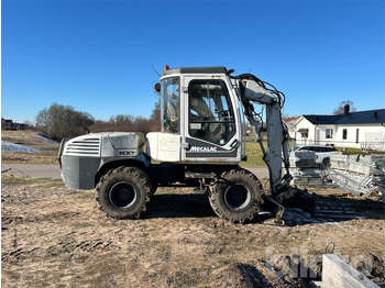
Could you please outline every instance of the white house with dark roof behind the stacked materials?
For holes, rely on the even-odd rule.
[[[301,115],[292,126],[299,145],[336,145],[362,149],[385,149],[385,109],[338,115]]]

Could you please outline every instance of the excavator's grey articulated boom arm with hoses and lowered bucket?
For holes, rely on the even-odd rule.
[[[293,176],[289,173],[288,159],[289,134],[282,120],[284,93],[251,74],[242,74],[233,78],[238,80],[244,114],[253,128],[256,141],[263,152],[263,159],[268,167],[272,197],[285,207],[300,207],[312,212],[315,198],[306,190],[289,186]],[[266,107],[266,126],[261,123],[262,119],[260,119],[261,121],[256,119],[257,114],[254,111],[253,102]],[[267,132],[267,148],[263,143],[262,132]],[[284,176],[282,176],[283,166],[285,167]]]

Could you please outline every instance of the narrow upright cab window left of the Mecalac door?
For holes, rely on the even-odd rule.
[[[172,77],[162,80],[162,132],[179,134],[180,122],[180,92],[179,78]]]

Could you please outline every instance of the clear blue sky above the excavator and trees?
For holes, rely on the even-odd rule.
[[[385,1],[1,2],[1,115],[53,102],[150,117],[152,65],[226,66],[286,95],[284,113],[385,108]]]

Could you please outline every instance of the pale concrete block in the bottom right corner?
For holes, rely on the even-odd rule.
[[[362,273],[343,262],[334,254],[323,254],[322,258],[323,288],[380,288]]]

